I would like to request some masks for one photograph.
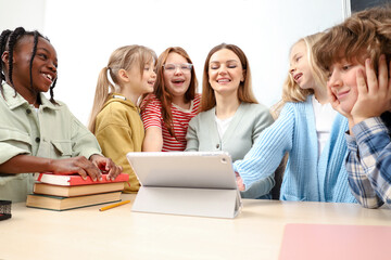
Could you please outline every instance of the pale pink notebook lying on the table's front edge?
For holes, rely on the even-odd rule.
[[[391,226],[287,224],[279,260],[391,259]]]

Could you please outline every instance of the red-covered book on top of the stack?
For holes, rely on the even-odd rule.
[[[102,181],[92,181],[90,177],[87,177],[87,180],[84,180],[79,174],[71,174],[71,176],[62,176],[62,174],[53,174],[53,173],[34,173],[34,178],[36,181],[54,184],[54,185],[63,185],[63,186],[75,186],[75,185],[87,185],[87,184],[99,184],[99,183],[112,183],[112,182],[127,182],[129,180],[129,176],[126,173],[118,174],[114,181],[108,180],[109,174],[102,174]]]

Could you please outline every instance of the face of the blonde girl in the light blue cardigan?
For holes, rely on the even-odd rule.
[[[299,87],[301,89],[313,89],[315,80],[310,68],[307,48],[303,40],[293,46],[289,61],[289,73]]]

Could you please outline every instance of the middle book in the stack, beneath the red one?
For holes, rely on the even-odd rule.
[[[90,185],[61,186],[47,183],[35,183],[34,193],[60,197],[75,197],[98,193],[119,192],[124,190],[123,182],[100,183]]]

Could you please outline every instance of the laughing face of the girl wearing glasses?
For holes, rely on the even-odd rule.
[[[191,69],[186,69],[182,64],[188,61],[180,54],[171,52],[164,65],[174,65],[175,69],[164,69],[164,84],[174,96],[184,96],[189,89],[191,80]]]

